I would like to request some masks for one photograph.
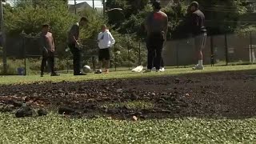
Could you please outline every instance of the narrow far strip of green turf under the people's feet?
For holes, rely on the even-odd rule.
[[[85,81],[94,79],[110,79],[110,78],[146,78],[163,75],[175,75],[175,74],[192,74],[192,73],[211,73],[219,71],[230,71],[230,70],[255,70],[256,65],[244,65],[244,66],[214,66],[206,67],[205,70],[191,70],[191,68],[174,68],[167,69],[164,73],[133,73],[130,71],[113,71],[110,74],[88,74],[86,76],[74,76],[73,74],[62,74],[60,77],[50,77],[46,75],[41,78],[39,75],[29,76],[0,76],[0,84],[18,84],[18,83],[29,83],[29,82],[62,82],[62,81]]]

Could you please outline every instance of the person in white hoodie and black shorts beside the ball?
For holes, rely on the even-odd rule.
[[[105,65],[106,74],[110,69],[110,47],[114,46],[115,40],[106,25],[102,25],[102,32],[98,34],[98,61],[99,66],[95,74],[102,74],[102,65]]]

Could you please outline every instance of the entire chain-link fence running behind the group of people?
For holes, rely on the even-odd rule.
[[[256,61],[256,33],[222,34],[208,36],[203,50],[205,65],[251,64]],[[55,42],[58,41],[55,39]],[[38,73],[41,66],[42,50],[38,37],[7,37],[7,68],[9,74]],[[122,44],[121,44],[122,43]],[[124,45],[125,43],[125,45]],[[59,72],[72,73],[72,54],[66,42],[56,44],[55,67]],[[146,42],[116,42],[111,48],[112,70],[131,70],[146,66]],[[163,50],[166,66],[189,66],[195,64],[194,39],[167,41]],[[82,66],[93,70],[98,64],[98,42],[87,39],[82,42]],[[0,65],[2,67],[2,65]],[[2,68],[1,68],[2,70]]]

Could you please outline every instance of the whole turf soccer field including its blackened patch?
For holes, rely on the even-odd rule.
[[[0,143],[255,143],[255,75],[248,65],[2,77]],[[14,118],[12,99],[50,114]]]

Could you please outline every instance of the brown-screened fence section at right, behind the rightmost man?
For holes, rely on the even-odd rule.
[[[222,34],[208,36],[203,50],[205,65],[237,65],[255,62],[256,33]],[[166,66],[195,64],[194,39],[178,39],[166,42],[163,57]]]

